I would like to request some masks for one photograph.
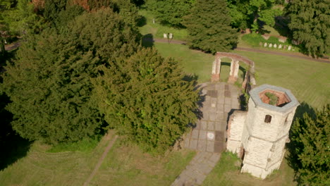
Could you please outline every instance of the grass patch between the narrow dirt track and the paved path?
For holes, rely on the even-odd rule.
[[[181,149],[155,157],[116,142],[90,185],[171,185],[193,156],[195,151]]]

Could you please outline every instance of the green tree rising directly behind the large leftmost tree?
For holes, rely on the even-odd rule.
[[[140,47],[138,28],[132,27],[126,18],[110,8],[85,13],[74,23],[69,23],[68,27],[71,34],[78,38],[80,49],[93,51],[103,61],[130,56]]]

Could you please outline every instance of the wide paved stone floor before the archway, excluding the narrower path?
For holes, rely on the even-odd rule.
[[[202,89],[203,94],[205,94],[202,108],[200,108],[202,118],[196,123],[196,127],[192,132],[187,135],[188,142],[184,143],[186,148],[209,152],[214,152],[215,148],[216,151],[223,149],[222,147],[225,146],[225,140],[223,139],[226,139],[225,131],[228,113],[232,109],[240,109],[238,101],[239,91],[238,87],[226,84],[225,82],[209,83],[209,85]],[[207,134],[212,132],[216,137],[216,134],[220,134],[220,131],[224,135],[222,135],[221,140],[216,141],[224,144],[220,144],[219,142],[214,143],[214,139],[207,137]]]

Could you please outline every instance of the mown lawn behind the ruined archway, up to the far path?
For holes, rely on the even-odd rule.
[[[163,56],[177,58],[185,72],[197,75],[200,83],[210,80],[214,61],[211,54],[190,50],[182,44],[154,43],[154,46]],[[290,89],[300,103],[305,101],[318,109],[330,103],[329,63],[250,51],[231,52],[255,61],[257,85],[270,84]],[[225,58],[222,62],[220,77],[221,80],[226,80],[230,60]]]

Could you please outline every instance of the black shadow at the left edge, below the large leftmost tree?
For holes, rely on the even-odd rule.
[[[32,143],[20,137],[11,128],[13,115],[5,110],[8,103],[7,95],[0,93],[0,149],[2,151],[0,153],[0,171],[26,156]]]

